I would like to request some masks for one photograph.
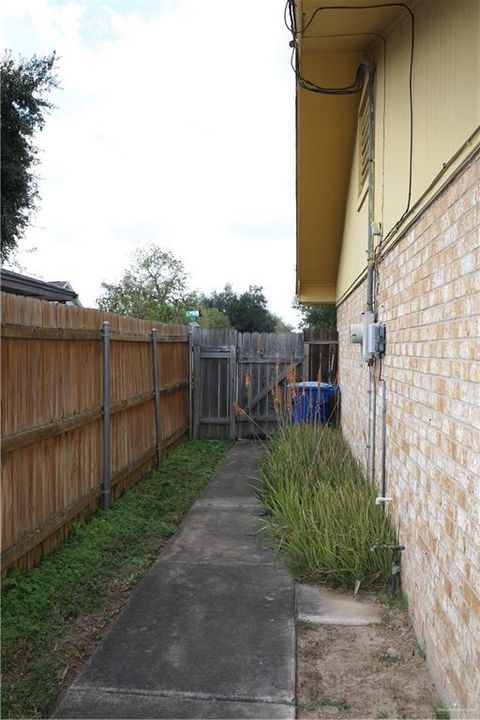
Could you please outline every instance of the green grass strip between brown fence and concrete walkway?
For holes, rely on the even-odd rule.
[[[45,718],[232,443],[188,441],[2,594],[2,717]]]

